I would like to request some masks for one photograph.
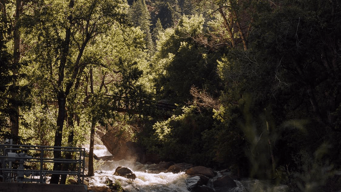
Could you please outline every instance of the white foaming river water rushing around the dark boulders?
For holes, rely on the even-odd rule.
[[[85,146],[88,147],[88,146]],[[94,154],[98,157],[111,155],[105,146],[96,145]],[[89,186],[105,186],[105,181],[120,180],[122,187],[128,192],[189,192],[186,187],[186,179],[190,176],[182,173],[147,173],[152,165],[144,165],[138,162],[102,161],[97,165],[95,176],[88,177]],[[131,180],[120,176],[115,176],[114,172],[118,166],[130,168],[136,175],[136,179]],[[285,192],[286,186],[271,186],[265,181],[256,179],[235,181],[237,187],[226,192]]]

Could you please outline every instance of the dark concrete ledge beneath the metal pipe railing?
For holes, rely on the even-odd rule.
[[[0,182],[0,192],[87,192],[86,185]]]

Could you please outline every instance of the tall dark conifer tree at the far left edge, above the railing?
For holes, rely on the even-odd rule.
[[[15,9],[7,7],[8,5],[16,5]],[[20,15],[23,12],[24,3],[21,0],[16,1],[1,1],[1,91],[3,105],[6,105],[4,110],[9,116],[11,122],[11,134],[18,136],[19,133],[19,107],[27,105],[23,97],[27,92],[26,85],[20,85],[20,80],[25,77],[24,73],[20,72],[21,66],[24,65],[20,61]],[[13,45],[13,50],[8,50],[6,43]],[[13,51],[13,52],[12,52]],[[10,54],[10,55],[9,55]],[[3,120],[5,121],[5,120]]]

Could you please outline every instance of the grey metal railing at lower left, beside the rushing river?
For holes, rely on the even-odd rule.
[[[53,151],[72,153],[72,159],[49,158]],[[1,144],[0,163],[3,182],[46,183],[50,175],[60,174],[74,175],[83,184],[85,148]],[[72,165],[72,170],[51,170],[53,163]],[[29,169],[32,165],[35,169]]]

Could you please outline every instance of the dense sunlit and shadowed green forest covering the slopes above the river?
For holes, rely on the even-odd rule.
[[[0,6],[2,139],[93,145],[101,126],[162,161],[341,189],[341,1]]]

